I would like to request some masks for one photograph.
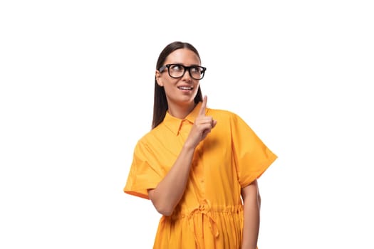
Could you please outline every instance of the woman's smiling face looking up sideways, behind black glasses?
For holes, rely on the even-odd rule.
[[[200,65],[200,60],[194,52],[187,48],[181,48],[167,56],[163,65],[167,64]],[[156,70],[156,80],[158,85],[164,87],[169,106],[194,105],[194,97],[199,89],[199,80],[192,78],[188,70],[181,78],[170,77],[167,68],[162,70],[162,73]]]

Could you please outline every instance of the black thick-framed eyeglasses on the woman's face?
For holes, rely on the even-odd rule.
[[[204,68],[199,65],[191,65],[189,67],[182,65],[182,64],[167,64],[162,65],[160,68],[160,73],[167,68],[167,73],[171,78],[181,78],[185,75],[186,70],[188,70],[189,75],[195,80],[201,80],[204,78],[204,73],[207,68]]]

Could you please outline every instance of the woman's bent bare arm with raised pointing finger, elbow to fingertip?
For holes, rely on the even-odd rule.
[[[177,160],[157,187],[148,190],[148,196],[156,210],[164,216],[170,216],[175,206],[180,202],[185,193],[194,150],[199,142],[207,137],[207,134],[209,134],[217,123],[212,117],[205,116],[206,106],[207,97],[205,96],[199,110],[199,115],[192,126],[191,132],[189,132]]]

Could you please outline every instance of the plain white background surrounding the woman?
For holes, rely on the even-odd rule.
[[[1,1],[0,248],[152,248],[123,193],[167,43],[278,156],[260,249],[374,248],[370,1]]]

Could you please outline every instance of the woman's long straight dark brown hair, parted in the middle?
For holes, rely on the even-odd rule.
[[[156,70],[159,70],[162,67],[162,65],[165,63],[167,56],[170,55],[170,53],[180,48],[187,48],[190,51],[196,53],[197,57],[201,61],[199,52],[197,52],[197,49],[194,48],[194,46],[186,42],[175,41],[167,45],[161,51],[160,55],[158,56]],[[197,90],[197,95],[194,97],[194,102],[197,104],[198,102],[201,102],[201,101],[202,101],[202,90],[200,89],[200,86],[199,86],[199,89]],[[167,106],[165,89],[163,87],[160,87],[160,85],[157,84],[157,80],[155,77],[155,98],[154,98],[154,103],[153,103],[152,129],[157,127],[157,125],[160,124],[162,120],[164,120],[167,108],[168,106]]]

